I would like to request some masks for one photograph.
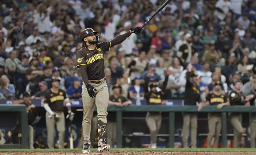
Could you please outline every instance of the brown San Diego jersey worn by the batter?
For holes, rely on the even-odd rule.
[[[79,68],[81,65],[87,66],[87,75],[89,80],[98,80],[105,77],[104,72],[104,53],[109,51],[111,41],[100,42],[95,49],[83,47],[76,54],[77,64]]]

